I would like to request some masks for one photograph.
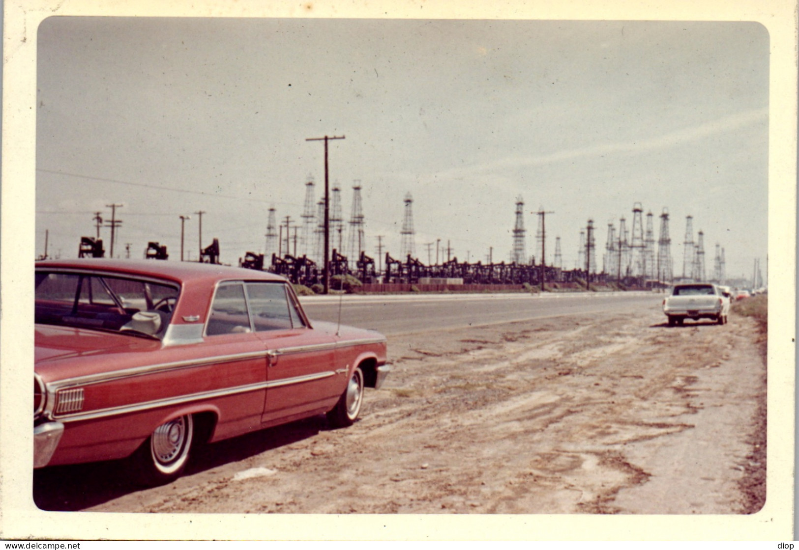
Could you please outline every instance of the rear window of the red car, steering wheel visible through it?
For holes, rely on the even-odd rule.
[[[180,287],[124,275],[37,271],[35,322],[160,337]]]

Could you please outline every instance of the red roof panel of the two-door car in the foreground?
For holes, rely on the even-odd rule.
[[[36,267],[78,268],[98,271],[113,271],[130,275],[171,279],[179,282],[217,281],[220,279],[257,279],[284,281],[280,275],[267,271],[221,266],[213,263],[179,262],[158,259],[99,259],[81,258],[70,260],[47,259],[36,262]]]

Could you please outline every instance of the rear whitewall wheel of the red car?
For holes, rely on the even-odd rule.
[[[134,477],[141,485],[164,485],[181,477],[194,437],[191,414],[161,424],[133,453]]]

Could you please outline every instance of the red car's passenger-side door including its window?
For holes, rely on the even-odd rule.
[[[344,374],[335,367],[332,334],[313,330],[282,282],[248,282],[256,334],[268,350],[264,424],[307,416],[335,405]]]

